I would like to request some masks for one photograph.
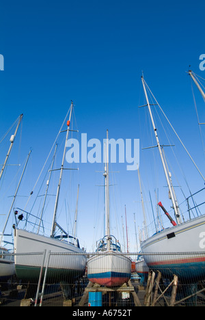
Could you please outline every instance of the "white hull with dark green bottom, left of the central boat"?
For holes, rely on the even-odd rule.
[[[48,272],[46,282],[71,281],[79,278],[85,271],[86,256],[83,250],[67,241],[44,237],[26,230],[14,230],[14,253],[16,275],[18,278],[36,280],[39,277],[40,267],[42,266],[43,255],[37,254],[46,250],[44,267],[49,257]],[[35,254],[36,253],[36,254]]]

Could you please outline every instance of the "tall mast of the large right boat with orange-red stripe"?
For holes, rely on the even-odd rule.
[[[179,214],[179,211],[178,211],[178,206],[176,205],[176,202],[175,202],[175,199],[174,199],[174,195],[173,195],[173,191],[172,191],[172,187],[171,187],[171,184],[170,184],[170,181],[169,181],[169,174],[167,173],[167,168],[166,168],[166,165],[165,165],[165,160],[163,158],[163,152],[161,150],[161,144],[159,143],[159,137],[157,135],[157,132],[156,132],[156,126],[154,124],[154,118],[152,116],[152,111],[151,111],[151,108],[150,108],[150,103],[149,103],[149,100],[148,100],[148,94],[146,92],[146,86],[145,86],[145,81],[143,79],[143,77],[141,77],[141,81],[142,81],[142,85],[143,85],[143,90],[144,90],[144,93],[145,93],[145,96],[146,96],[146,101],[147,101],[147,105],[148,105],[148,110],[149,110],[149,113],[150,113],[150,118],[151,118],[151,122],[152,122],[152,126],[153,126],[153,129],[154,129],[154,135],[156,137],[156,144],[157,144],[157,147],[159,149],[159,155],[161,157],[161,162],[162,162],[162,165],[163,165],[163,170],[165,172],[165,178],[167,180],[167,185],[168,185],[168,188],[169,188],[169,193],[170,193],[170,197],[171,197],[171,200],[172,200],[172,204],[173,204],[173,208],[174,208],[174,213],[175,213],[175,217],[176,217],[176,221],[178,222],[178,224],[180,224],[180,214]]]

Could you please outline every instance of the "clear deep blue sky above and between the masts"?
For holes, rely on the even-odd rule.
[[[205,53],[204,7],[204,1],[200,0],[1,3],[0,53],[4,57],[4,70],[0,71],[0,135],[23,113],[20,149],[16,142],[12,156],[15,159],[18,152],[23,163],[29,148],[33,150],[31,173],[22,194],[29,193],[36,182],[71,100],[79,135],[87,133],[88,139],[103,139],[109,129],[109,137],[136,138],[141,146],[149,145],[144,135],[144,110],[138,108],[144,103],[142,71],[165,114],[203,170],[202,145],[186,72],[191,65],[197,75],[205,76],[205,71],[199,68],[199,57]],[[202,104],[200,97],[198,100]],[[1,149],[1,161],[7,146]],[[148,189],[154,190],[146,164],[151,161],[152,151],[148,152],[140,150],[140,172],[146,193]],[[183,156],[182,151],[180,158]],[[194,168],[191,175],[189,164],[189,159],[182,161],[196,191],[204,183]],[[128,172],[125,166],[118,163],[113,166],[113,171],[120,171],[115,177],[118,222],[126,204],[131,248],[135,250],[134,212],[137,224],[141,224],[139,183],[137,172]],[[103,165],[79,165],[74,180],[80,183],[78,236],[88,250],[98,230],[94,223],[103,213],[103,194],[96,186],[102,183],[102,176],[96,170],[103,170]],[[159,174],[161,168],[157,171]],[[98,202],[100,193],[102,199]],[[73,199],[75,202],[76,197]],[[25,199],[19,197],[18,206],[20,201]]]

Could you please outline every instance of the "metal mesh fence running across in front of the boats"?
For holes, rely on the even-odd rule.
[[[92,265],[83,264],[84,259],[90,261],[96,257]],[[99,263],[102,257],[124,256],[131,258],[133,269],[131,277],[124,283],[114,286],[95,284],[90,281],[90,274],[107,272],[112,269],[112,276],[123,274],[124,264],[112,261],[113,265]],[[189,253],[191,265],[155,265],[148,269],[143,258],[159,254],[129,253],[112,255],[103,253],[54,253],[37,252],[30,254],[1,254],[1,306],[205,306],[205,266],[203,254]],[[184,261],[188,253],[161,254],[163,261],[172,263]],[[190,259],[189,259],[190,260]],[[121,259],[123,261],[123,259]],[[200,261],[200,267],[197,263]],[[82,262],[82,264],[81,264]],[[135,269],[136,268],[138,273]],[[72,265],[72,268],[66,266]],[[141,265],[140,265],[141,263]],[[10,267],[12,265],[12,267]],[[139,268],[140,267],[140,268]],[[190,273],[188,272],[188,269]],[[200,269],[200,274],[198,273]],[[195,274],[195,278],[193,278]],[[185,275],[185,276],[184,276]],[[105,275],[104,275],[105,276]]]

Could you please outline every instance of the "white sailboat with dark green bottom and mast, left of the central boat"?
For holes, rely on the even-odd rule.
[[[79,240],[76,237],[68,235],[56,221],[57,206],[59,202],[59,191],[61,188],[61,180],[64,172],[64,159],[66,155],[66,145],[70,129],[70,119],[73,110],[73,103],[70,105],[70,115],[67,122],[66,142],[59,169],[59,183],[57,185],[57,194],[55,198],[55,207],[53,213],[53,223],[51,227],[51,235],[47,237],[39,232],[30,232],[29,230],[20,229],[18,226],[14,229],[14,254],[16,275],[20,279],[25,279],[30,282],[36,281],[40,274],[42,261],[33,255],[39,252],[46,252],[44,258],[44,267],[48,261],[49,252],[54,253],[49,258],[49,264],[46,274],[46,282],[66,282],[72,283],[83,275],[85,271],[86,256],[83,249],[80,248]],[[16,212],[16,214],[18,214]],[[21,214],[21,218],[22,218]],[[29,214],[28,214],[29,215]],[[19,217],[19,216],[18,216]],[[20,218],[20,219],[21,219]],[[61,235],[56,235],[57,228]],[[57,253],[55,255],[55,253]]]

